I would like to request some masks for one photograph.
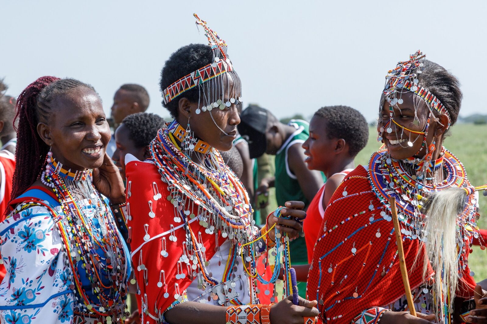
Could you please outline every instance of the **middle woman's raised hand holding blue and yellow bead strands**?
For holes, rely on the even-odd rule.
[[[286,232],[289,239],[297,239],[303,229],[303,225],[295,218],[303,220],[306,217],[306,212],[302,210],[304,208],[304,203],[293,200],[286,202],[284,205],[285,208],[281,209],[282,216],[291,218],[284,219],[281,217],[271,216],[267,221],[267,228],[271,228],[272,225],[276,223],[276,228],[282,232]],[[270,231],[268,235],[273,241],[276,240],[274,231]]]

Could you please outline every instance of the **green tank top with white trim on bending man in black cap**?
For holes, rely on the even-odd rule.
[[[302,192],[298,178],[289,169],[287,151],[292,145],[296,143],[301,145],[308,138],[309,123],[300,119],[292,119],[288,125],[294,126],[296,131],[286,139],[276,153],[276,200],[279,206],[284,206],[285,202],[290,200],[298,200],[304,202],[305,207],[307,207],[310,201],[306,199],[306,196]],[[299,237],[291,241],[289,247],[291,249],[291,263],[308,263],[304,237]],[[299,292],[301,295],[301,289]],[[305,293],[305,291],[302,291],[302,293]]]

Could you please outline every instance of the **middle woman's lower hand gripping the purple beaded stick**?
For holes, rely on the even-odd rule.
[[[300,305],[294,305],[293,296],[290,295],[271,306],[269,315],[271,324],[303,324],[304,317],[314,317],[316,323],[318,320],[316,317],[319,315],[318,308],[315,307],[317,304],[316,300],[309,301],[300,297]]]

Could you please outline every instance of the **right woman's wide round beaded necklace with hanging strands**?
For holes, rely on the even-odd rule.
[[[412,163],[412,164],[411,164]],[[462,163],[448,150],[442,148],[440,158],[424,165],[424,160],[394,160],[388,151],[379,151],[372,155],[369,162],[368,178],[377,199],[383,205],[380,215],[387,221],[391,221],[391,206],[389,197],[396,198],[398,218],[401,224],[401,233],[410,239],[419,239],[423,243],[428,241],[428,232],[425,230],[427,215],[421,210],[429,193],[447,188],[464,188],[469,186],[466,171]],[[417,168],[414,164],[420,164]],[[411,171],[412,172],[411,174]],[[428,177],[428,172],[432,173]],[[436,180],[435,173],[443,172],[444,180]],[[468,264],[467,249],[464,242],[472,235],[467,228],[476,228],[476,199],[468,195],[463,211],[458,215],[456,226],[456,251],[458,253],[458,271],[465,270]],[[373,205],[371,204],[373,207]],[[370,208],[370,207],[369,207]],[[465,224],[465,225],[462,225]],[[443,271],[441,281],[443,282]],[[473,274],[470,274],[473,275]],[[461,276],[460,276],[461,277]],[[442,290],[439,298],[440,303],[438,316],[444,319],[445,323],[451,321],[450,295],[448,290]],[[433,296],[433,298],[436,298]]]

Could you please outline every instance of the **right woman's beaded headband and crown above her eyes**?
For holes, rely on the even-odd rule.
[[[422,51],[418,50],[409,56],[408,61],[400,61],[395,68],[389,70],[382,93],[381,106],[385,99],[393,105],[396,104],[396,93],[401,92],[401,90],[409,90],[428,103],[430,109],[435,110],[439,114],[447,114],[450,117],[448,110],[440,100],[428,89],[423,88],[418,84],[418,75],[424,70],[424,65],[421,60],[425,57],[426,54],[423,54]]]

